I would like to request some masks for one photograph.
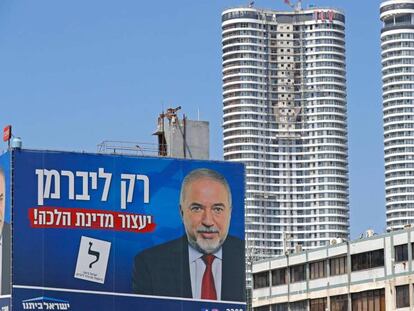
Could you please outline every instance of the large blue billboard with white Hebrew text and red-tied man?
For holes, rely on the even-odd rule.
[[[241,164],[12,157],[13,310],[245,310]]]

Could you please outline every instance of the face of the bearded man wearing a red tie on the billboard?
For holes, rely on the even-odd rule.
[[[229,231],[229,194],[220,182],[208,177],[192,181],[184,190],[181,213],[188,241],[203,253],[214,253]]]

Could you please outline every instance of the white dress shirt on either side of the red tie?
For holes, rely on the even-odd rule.
[[[203,255],[199,251],[188,246],[188,259],[190,264],[191,290],[193,298],[201,299],[201,283],[203,282],[204,271],[206,264],[203,261]],[[221,267],[222,267],[222,249],[213,253],[216,257],[212,264],[212,272],[214,278],[214,285],[216,287],[217,300],[221,300]]]

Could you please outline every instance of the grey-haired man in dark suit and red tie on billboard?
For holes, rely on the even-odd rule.
[[[185,235],[135,257],[133,292],[244,302],[244,242],[228,235],[232,209],[231,189],[220,173],[191,171],[180,192]]]

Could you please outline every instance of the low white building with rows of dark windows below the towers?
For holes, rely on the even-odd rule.
[[[414,228],[253,264],[255,311],[414,310]]]

